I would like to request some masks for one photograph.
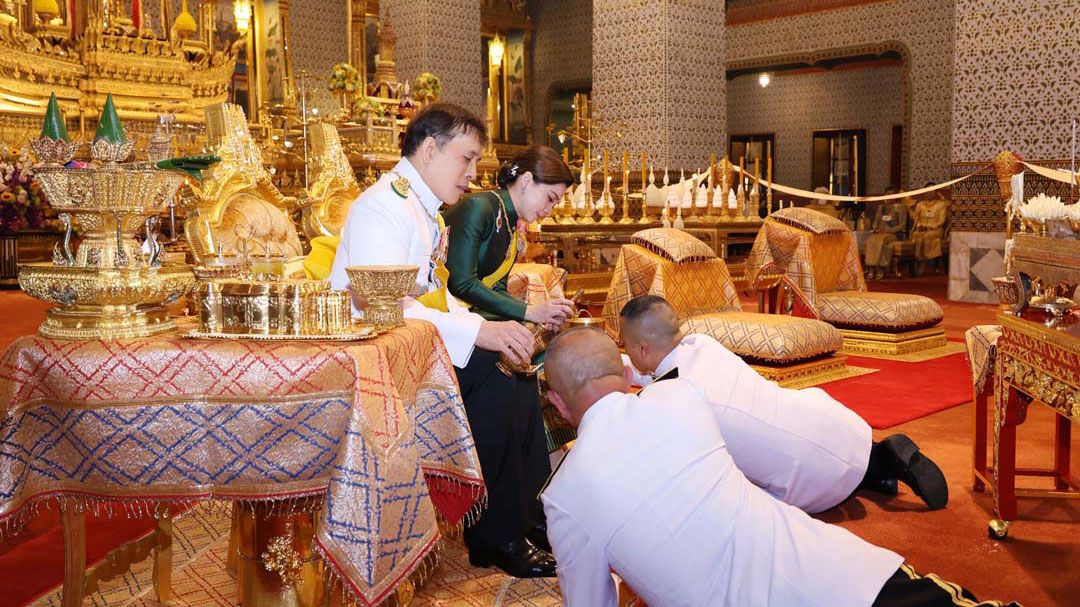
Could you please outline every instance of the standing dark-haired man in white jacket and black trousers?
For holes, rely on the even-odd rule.
[[[350,207],[330,283],[349,288],[349,266],[420,268],[405,316],[430,321],[446,343],[487,487],[487,510],[465,529],[469,559],[516,577],[552,577],[551,553],[528,539],[546,544],[537,494],[551,466],[537,390],[496,367],[500,352],[527,361],[532,335],[517,322],[486,321],[446,292],[448,234],[438,208],[465,193],[486,141],[484,122],[469,110],[421,110],[405,130],[402,160]]]

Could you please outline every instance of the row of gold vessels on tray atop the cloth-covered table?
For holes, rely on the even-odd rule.
[[[191,337],[363,339],[375,327],[354,324],[349,292],[326,281],[214,279],[194,289],[199,329]]]

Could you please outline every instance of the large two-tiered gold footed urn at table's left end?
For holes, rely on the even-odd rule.
[[[163,265],[158,215],[184,175],[150,164],[45,164],[36,178],[67,231],[52,262],[21,264],[18,284],[58,307],[38,329],[57,339],[127,339],[176,328],[166,306],[194,283],[191,267]],[[144,228],[146,242],[135,239]],[[72,251],[72,235],[82,238]]]

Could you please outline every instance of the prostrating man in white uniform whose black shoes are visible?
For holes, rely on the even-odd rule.
[[[701,387],[735,466],[777,499],[822,512],[858,489],[895,495],[899,480],[932,510],[947,503],[941,469],[906,435],[875,443],[870,427],[824,390],[781,388],[711,336],[684,336],[664,298],[626,302],[620,328],[635,369]]]

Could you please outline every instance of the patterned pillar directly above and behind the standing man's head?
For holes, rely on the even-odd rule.
[[[430,71],[443,81],[443,100],[484,116],[478,0],[386,0],[397,32],[397,78]]]

